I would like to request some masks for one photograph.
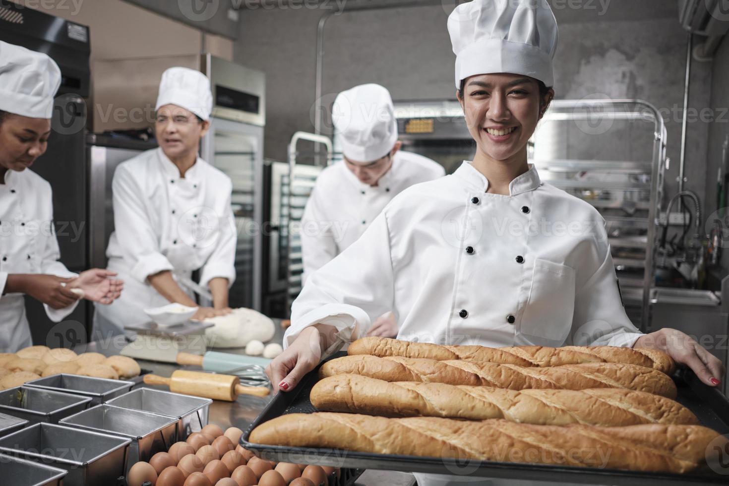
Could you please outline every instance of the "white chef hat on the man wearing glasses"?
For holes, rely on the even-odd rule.
[[[155,110],[170,104],[192,111],[202,119],[209,119],[213,109],[210,79],[195,69],[169,68],[162,74]]]

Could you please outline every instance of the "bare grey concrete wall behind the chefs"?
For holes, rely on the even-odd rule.
[[[554,5],[560,25],[557,98],[604,94],[642,98],[657,106],[668,130],[670,197],[677,190],[687,44],[675,2],[612,0],[604,9],[596,1],[583,2],[582,9]],[[414,7],[332,17],[325,29],[324,95],[331,98],[347,87],[377,82],[396,101],[453,98],[449,10]],[[284,160],[292,134],[313,131],[316,26],[325,12],[322,7],[241,11],[234,55],[237,62],[266,73],[267,157]],[[691,106],[708,106],[710,71],[706,63],[693,66]],[[690,123],[688,129],[686,187],[702,194],[706,130],[701,123]]]

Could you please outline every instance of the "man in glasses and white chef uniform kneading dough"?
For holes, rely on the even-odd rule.
[[[210,126],[210,80],[199,71],[169,68],[155,109],[159,148],[120,164],[114,173],[114,233],[106,256],[109,270],[127,285],[121,299],[96,307],[95,332],[102,336],[149,321],[144,313],[149,307],[197,306],[184,283],[194,270],[200,270],[200,286],[209,289],[214,307],[200,307],[192,318],[230,313],[237,240],[233,185],[198,157]]]

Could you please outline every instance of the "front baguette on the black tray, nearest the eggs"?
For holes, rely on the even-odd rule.
[[[729,447],[726,439],[717,437],[720,434],[702,426],[536,426],[499,419],[316,412],[268,420],[253,429],[249,440],[376,454],[685,473]],[[723,443],[707,449],[714,440]]]

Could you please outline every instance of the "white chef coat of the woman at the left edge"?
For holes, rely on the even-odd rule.
[[[58,262],[58,240],[53,227],[53,202],[50,184],[30,169],[7,171],[0,184],[0,352],[15,351],[33,344],[26,318],[23,294],[4,294],[10,273],[49,274],[69,278]],[[59,322],[76,308],[78,302],[53,309],[44,305],[51,321]]]

